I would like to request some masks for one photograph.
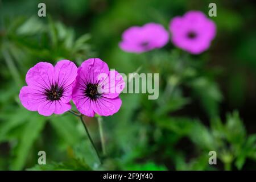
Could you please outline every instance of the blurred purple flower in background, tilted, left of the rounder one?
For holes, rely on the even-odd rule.
[[[126,52],[146,52],[161,48],[169,40],[168,31],[157,23],[147,23],[143,27],[130,27],[122,35],[119,47]]]

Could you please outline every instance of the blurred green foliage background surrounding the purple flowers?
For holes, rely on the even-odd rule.
[[[157,22],[168,28],[170,19],[185,11],[207,13],[210,1],[44,2],[46,18],[37,16],[39,1],[0,1],[0,169],[255,169],[253,2],[217,1],[218,34],[199,56],[171,43],[137,55],[123,52],[118,42],[130,26]],[[28,69],[39,61],[69,59],[80,65],[95,56],[118,72],[160,77],[158,100],[121,94],[121,109],[103,118],[102,165],[79,118],[43,117],[24,109],[18,98]],[[96,119],[86,123],[101,150]],[[46,151],[47,165],[38,165],[40,150]],[[217,165],[208,163],[211,150]]]

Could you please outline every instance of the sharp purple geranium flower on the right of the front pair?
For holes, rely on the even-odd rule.
[[[80,113],[93,117],[113,115],[121,107],[118,97],[124,88],[122,76],[109,71],[108,65],[98,59],[88,59],[77,70],[72,99]]]

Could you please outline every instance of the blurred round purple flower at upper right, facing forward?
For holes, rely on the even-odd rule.
[[[216,25],[200,11],[188,11],[170,22],[171,40],[175,46],[193,54],[210,47],[216,35]]]

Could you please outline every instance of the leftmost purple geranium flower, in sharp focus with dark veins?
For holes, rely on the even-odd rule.
[[[19,99],[26,109],[39,114],[62,114],[71,109],[69,101],[76,76],[77,67],[69,60],[61,60],[55,67],[40,62],[28,70],[27,86],[20,90]]]

